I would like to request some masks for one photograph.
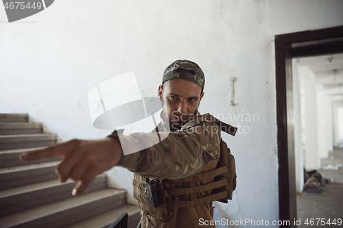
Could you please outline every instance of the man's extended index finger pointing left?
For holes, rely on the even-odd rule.
[[[45,149],[21,153],[19,158],[22,161],[30,161],[48,157],[64,157],[65,154],[73,150],[79,144],[78,141],[79,140],[69,140],[68,142],[55,144],[54,146]]]

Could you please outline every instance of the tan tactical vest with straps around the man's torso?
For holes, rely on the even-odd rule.
[[[211,181],[198,185],[204,179]],[[175,207],[194,207],[212,201],[227,203],[228,199],[231,200],[236,189],[235,157],[221,139],[220,160],[216,168],[182,179],[160,179],[158,190],[162,203],[156,208],[147,203],[143,181],[145,177],[134,174],[134,204],[150,216],[167,222],[172,218]],[[209,194],[203,194],[204,192]]]

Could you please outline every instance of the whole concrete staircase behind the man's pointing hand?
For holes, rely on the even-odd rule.
[[[73,197],[75,181],[60,183],[59,158],[21,162],[19,154],[56,144],[55,134],[27,114],[0,114],[0,228],[108,227],[123,212],[136,227],[140,210],[126,204],[126,191],[107,187],[97,176],[84,194]]]

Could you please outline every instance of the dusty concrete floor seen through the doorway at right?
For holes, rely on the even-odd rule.
[[[329,164],[343,164],[343,149],[335,148],[329,152],[329,158],[321,160],[321,167]],[[343,227],[343,168],[338,170],[320,169],[319,173],[322,177],[331,179],[331,183],[327,183],[325,190],[321,193],[302,192],[296,196],[296,205],[298,210],[298,220],[300,225],[297,227]],[[306,225],[305,221],[314,218],[315,225]],[[330,218],[336,221],[336,225],[320,225],[317,224],[316,218],[324,218],[327,222]],[[340,218],[341,225],[338,225]]]

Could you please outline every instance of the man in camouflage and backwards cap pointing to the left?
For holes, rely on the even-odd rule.
[[[124,156],[123,143],[149,144],[152,134],[121,136],[119,142],[114,131],[101,140],[74,139],[23,154],[21,159],[63,157],[56,170],[62,183],[69,178],[79,181],[74,195],[82,193],[94,177],[113,166],[128,168],[134,172],[134,204],[142,210],[139,227],[199,227],[200,218],[213,220],[212,201],[225,201],[232,196],[227,192],[228,183],[229,192],[233,189],[233,181],[215,181],[215,176],[228,173],[228,166],[218,168],[223,149],[217,119],[198,112],[203,90],[204,73],[198,64],[176,60],[165,69],[158,88],[163,112],[156,128],[158,134],[168,134],[163,141]],[[166,121],[171,132],[163,132]],[[215,188],[224,191],[215,193]]]

